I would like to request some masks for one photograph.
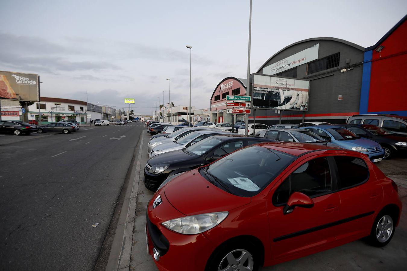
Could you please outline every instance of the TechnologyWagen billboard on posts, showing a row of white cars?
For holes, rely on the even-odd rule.
[[[309,81],[253,74],[252,108],[308,111]]]

